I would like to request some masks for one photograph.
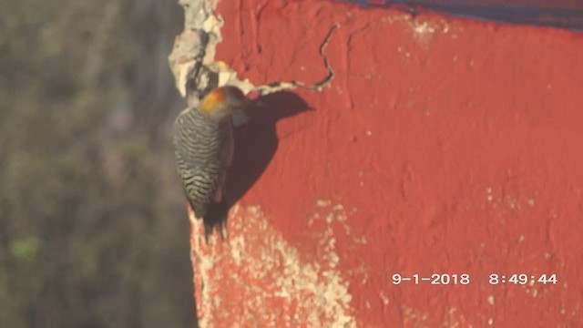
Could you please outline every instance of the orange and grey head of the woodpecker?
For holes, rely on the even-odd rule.
[[[210,118],[230,118],[235,112],[244,110],[251,104],[251,99],[245,97],[239,87],[217,87],[200,102],[199,110]]]

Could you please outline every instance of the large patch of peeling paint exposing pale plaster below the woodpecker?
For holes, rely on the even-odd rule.
[[[220,241],[215,233],[210,245],[206,245],[201,222],[193,221],[191,245],[196,256],[192,259],[195,275],[199,275],[199,284],[204,286],[197,300],[201,303],[200,326],[227,323],[218,316],[229,313],[220,306],[226,306],[224,297],[230,294],[245,295],[242,302],[246,303],[239,306],[244,312],[238,319],[242,326],[261,323],[356,326],[349,282],[337,270],[342,259],[335,251],[336,237],[331,226],[345,224],[346,213],[342,205],[332,205],[328,200],[316,205],[328,215],[317,215],[314,219],[324,220],[326,225],[318,232],[321,255],[313,261],[301,259],[300,252],[271,227],[259,206],[233,207],[229,241]]]

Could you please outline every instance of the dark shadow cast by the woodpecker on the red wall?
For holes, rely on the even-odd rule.
[[[253,106],[247,111],[250,121],[235,128],[235,154],[227,173],[227,203],[210,208],[210,211],[218,211],[218,215],[209,215],[224,221],[213,222],[213,226],[226,223],[230,207],[251,189],[267,169],[279,145],[275,129],[277,122],[313,110],[302,97],[289,91],[275,92],[258,100],[261,106]]]

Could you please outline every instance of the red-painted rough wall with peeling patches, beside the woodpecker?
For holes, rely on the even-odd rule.
[[[192,225],[201,326],[583,324],[582,35],[321,0],[216,13],[248,89],[333,76],[238,129],[229,239]],[[469,282],[414,282],[434,273]]]

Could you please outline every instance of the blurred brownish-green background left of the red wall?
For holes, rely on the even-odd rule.
[[[176,0],[0,0],[0,327],[191,327]]]

